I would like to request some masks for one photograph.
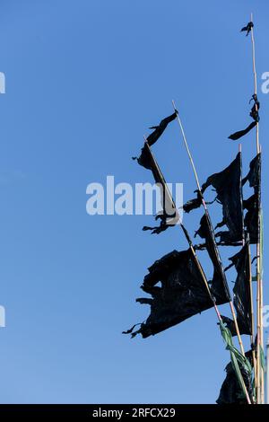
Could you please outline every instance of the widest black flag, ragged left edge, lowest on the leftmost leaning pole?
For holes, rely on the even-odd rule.
[[[159,282],[161,286],[156,286]],[[151,302],[144,298],[136,299],[138,303],[151,305],[150,316],[135,332],[143,338],[167,330],[213,307],[202,270],[191,249],[172,251],[155,261],[143,279],[142,289],[152,295]]]

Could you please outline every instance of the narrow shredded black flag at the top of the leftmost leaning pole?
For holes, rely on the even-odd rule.
[[[155,217],[155,220],[160,220],[161,223],[160,225],[153,227],[144,226],[143,231],[151,231],[152,234],[159,234],[178,223],[178,210],[170,195],[167,183],[161,173],[161,169],[152,154],[150,146],[146,142],[143,145],[142,154],[137,161],[139,164],[143,165],[143,167],[152,171],[155,183],[161,191],[162,211]]]

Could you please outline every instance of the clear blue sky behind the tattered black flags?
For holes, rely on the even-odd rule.
[[[249,121],[253,93],[250,40],[239,33],[251,11],[260,92],[269,71],[265,0],[1,2],[1,403],[217,398],[229,354],[212,310],[153,338],[121,334],[149,312],[134,302],[146,268],[186,248],[182,234],[143,233],[151,217],[87,215],[85,192],[107,174],[152,181],[130,157],[172,99],[201,181],[230,163],[238,144],[227,136]],[[266,240],[269,94],[259,97]],[[154,153],[190,198],[195,180],[176,124]],[[247,171],[254,132],[243,154]],[[186,216],[190,233],[199,216]],[[225,263],[231,252],[222,251]],[[266,255],[265,243],[265,278]]]

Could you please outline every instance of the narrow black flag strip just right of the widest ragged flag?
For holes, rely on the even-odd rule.
[[[211,283],[211,293],[217,304],[228,303],[230,302],[229,287],[214,238],[213,227],[207,214],[201,218],[196,234],[205,240],[205,248],[213,263],[213,280],[209,282]]]

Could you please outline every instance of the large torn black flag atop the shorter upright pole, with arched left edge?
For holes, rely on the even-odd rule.
[[[222,221],[216,228],[227,225],[229,231],[216,233],[223,245],[232,245],[233,242],[243,239],[243,199],[241,184],[241,153],[226,169],[214,173],[202,186],[202,194],[209,186],[217,192],[217,201],[222,205]]]

